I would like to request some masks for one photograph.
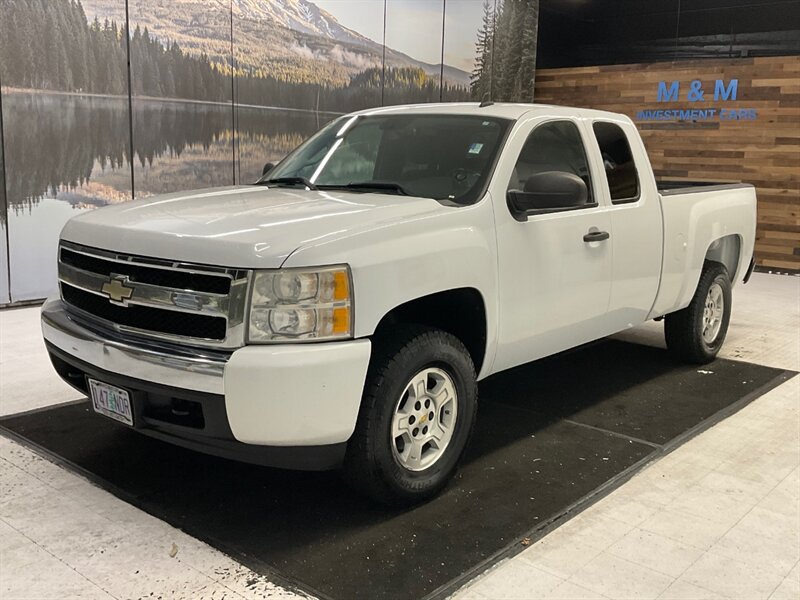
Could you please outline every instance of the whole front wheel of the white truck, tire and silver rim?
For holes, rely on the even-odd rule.
[[[475,368],[458,338],[417,326],[377,337],[346,478],[384,504],[434,496],[456,469],[476,409]]]

